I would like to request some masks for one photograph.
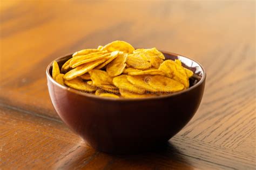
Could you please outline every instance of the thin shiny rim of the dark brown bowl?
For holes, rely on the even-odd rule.
[[[51,61],[49,63],[49,65],[47,66],[47,68],[46,68],[46,76],[48,77],[48,80],[50,80],[53,84],[57,85],[58,87],[60,87],[62,89],[68,90],[71,93],[75,93],[75,94],[78,94],[78,95],[86,96],[86,97],[89,97],[89,98],[95,98],[97,100],[104,100],[104,101],[146,101],[146,100],[157,100],[157,99],[161,99],[161,98],[169,98],[169,97],[172,97],[172,96],[177,96],[177,95],[180,95],[180,94],[183,94],[183,93],[187,93],[188,91],[191,91],[194,88],[197,88],[203,82],[205,82],[206,72],[205,72],[204,67],[199,62],[197,62],[197,61],[195,61],[195,60],[193,60],[191,58],[188,58],[187,56],[184,56],[184,55],[180,55],[180,54],[176,54],[176,53],[172,53],[172,52],[166,52],[166,51],[162,51],[162,50],[159,50],[159,51],[162,52],[162,53],[165,53],[165,54],[182,56],[184,58],[192,60],[193,62],[196,62],[201,67],[201,69],[203,70],[203,77],[201,78],[201,80],[199,82],[197,82],[194,86],[192,86],[190,88],[187,88],[187,89],[182,90],[182,91],[178,91],[176,93],[166,94],[166,95],[152,96],[152,97],[137,97],[137,98],[113,98],[113,97],[97,96],[95,94],[85,93],[83,91],[79,91],[79,90],[76,90],[76,89],[73,89],[73,88],[70,88],[70,87],[63,86],[62,84],[59,84],[58,82],[53,80],[52,76],[50,75],[49,70],[50,70],[50,67],[51,67],[53,61],[60,60],[60,59],[65,58],[65,57],[67,57],[69,55],[72,55],[73,53],[59,56],[55,60]]]

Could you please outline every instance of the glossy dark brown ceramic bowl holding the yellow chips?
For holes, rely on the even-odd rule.
[[[46,69],[53,107],[59,117],[93,148],[109,153],[146,151],[166,143],[197,111],[204,93],[206,73],[196,61],[163,52],[192,70],[191,87],[169,95],[147,98],[107,98],[58,84]],[[59,66],[71,54],[56,59]]]

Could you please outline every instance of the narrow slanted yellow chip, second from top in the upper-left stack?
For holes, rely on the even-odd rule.
[[[93,54],[93,53],[92,53]],[[75,60],[75,59],[72,59],[70,61],[70,65],[72,68],[75,68],[77,66],[80,66],[84,63],[87,63],[87,62],[91,62],[91,61],[95,61],[95,60],[99,60],[99,59],[109,59],[109,56],[110,56],[110,53],[106,53],[106,54],[95,54],[95,55],[92,55],[90,56],[90,58],[87,58],[87,59],[83,59],[83,60]]]

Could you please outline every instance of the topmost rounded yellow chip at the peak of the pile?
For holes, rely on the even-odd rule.
[[[125,41],[113,41],[103,47],[104,50],[109,52],[122,51],[125,53],[132,53],[134,48],[131,44]]]

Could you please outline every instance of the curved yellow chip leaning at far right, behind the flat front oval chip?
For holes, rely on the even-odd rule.
[[[172,60],[165,60],[161,63],[159,69],[163,70],[167,77],[184,84],[185,88],[190,86],[185,69],[176,62]]]

